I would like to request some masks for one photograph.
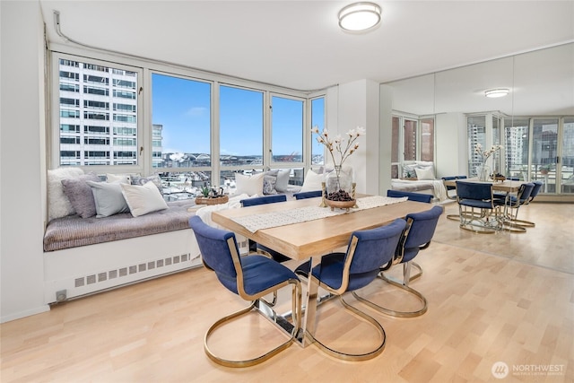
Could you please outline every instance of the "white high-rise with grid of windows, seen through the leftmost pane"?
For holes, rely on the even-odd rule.
[[[61,59],[60,165],[137,164],[138,89],[135,72]]]

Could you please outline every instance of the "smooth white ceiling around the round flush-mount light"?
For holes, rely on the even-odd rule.
[[[387,83],[574,41],[571,0],[376,1],[382,22],[363,34],[337,24],[350,3],[39,0],[49,42],[73,45],[57,35],[59,11],[62,32],[83,44],[301,91]]]

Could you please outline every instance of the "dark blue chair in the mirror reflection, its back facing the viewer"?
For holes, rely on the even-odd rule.
[[[490,182],[457,180],[460,228],[482,234],[500,231],[500,205],[495,201]]]

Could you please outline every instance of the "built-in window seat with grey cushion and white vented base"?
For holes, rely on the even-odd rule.
[[[44,235],[45,302],[54,303],[201,265],[188,220],[193,200],[133,217],[77,215],[48,222]],[[191,208],[191,209],[189,209]],[[188,210],[189,209],[189,210]]]

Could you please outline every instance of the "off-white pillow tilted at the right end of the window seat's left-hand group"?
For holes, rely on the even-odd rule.
[[[129,211],[135,217],[168,208],[160,190],[152,181],[146,182],[143,186],[127,184],[119,186],[122,188],[122,195],[126,199]]]

